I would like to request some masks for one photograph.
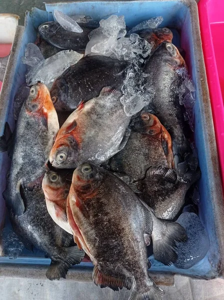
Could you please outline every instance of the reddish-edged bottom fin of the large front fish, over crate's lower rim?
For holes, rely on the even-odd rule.
[[[132,280],[126,277],[117,278],[112,277],[110,275],[103,274],[99,269],[98,266],[95,265],[93,268],[92,278],[95,285],[99,285],[102,287],[110,287],[113,290],[122,289],[122,287],[126,287],[127,289],[131,288]]]

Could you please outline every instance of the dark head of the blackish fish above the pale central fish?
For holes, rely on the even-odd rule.
[[[56,109],[66,109],[68,87],[66,81],[63,78],[58,78],[53,82],[53,85],[50,89],[50,96]]]

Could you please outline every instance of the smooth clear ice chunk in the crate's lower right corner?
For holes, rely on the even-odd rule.
[[[177,242],[178,258],[174,265],[178,268],[188,269],[206,255],[209,249],[209,240],[199,217],[195,213],[183,212],[176,222],[185,228],[188,240]]]

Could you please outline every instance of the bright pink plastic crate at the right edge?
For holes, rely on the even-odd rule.
[[[200,0],[198,11],[224,190],[224,0]]]

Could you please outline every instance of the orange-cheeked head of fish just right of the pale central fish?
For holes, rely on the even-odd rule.
[[[154,135],[161,130],[161,123],[154,114],[144,111],[135,121],[134,129],[141,133]]]

